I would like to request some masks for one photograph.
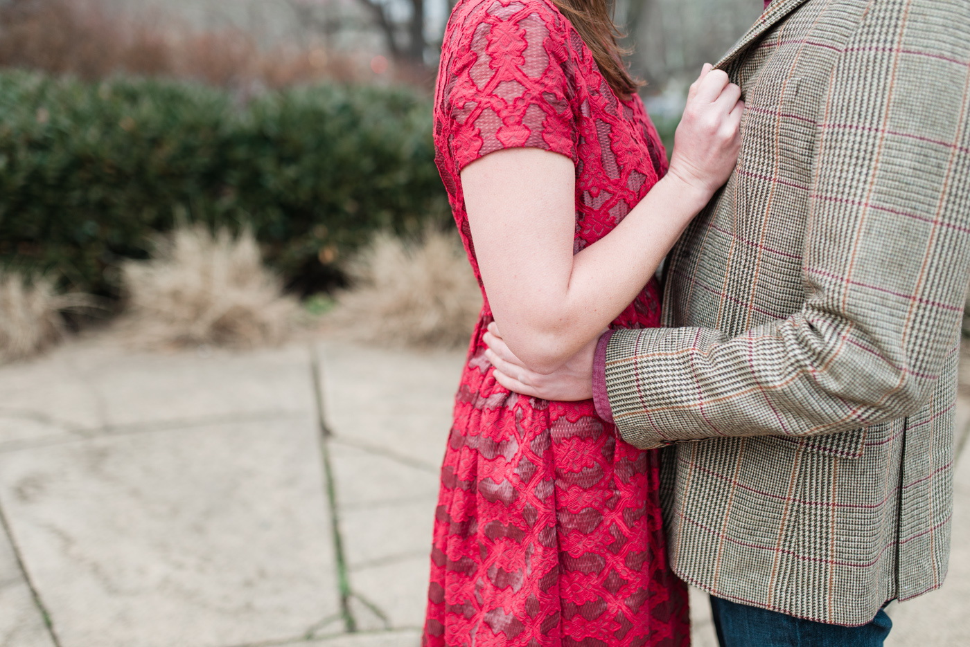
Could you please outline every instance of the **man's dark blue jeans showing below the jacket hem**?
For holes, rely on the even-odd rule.
[[[721,647],[882,647],[892,629],[883,609],[861,627],[826,625],[714,596],[711,611]]]

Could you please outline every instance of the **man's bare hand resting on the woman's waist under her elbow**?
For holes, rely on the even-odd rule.
[[[549,374],[536,373],[512,354],[501,339],[499,326],[489,323],[485,356],[495,367],[495,378],[505,388],[543,400],[588,400],[593,397],[593,355],[598,337]]]

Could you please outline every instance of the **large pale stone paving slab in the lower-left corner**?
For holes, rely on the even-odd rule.
[[[307,418],[0,454],[0,504],[65,647],[303,634],[339,610],[323,493]]]

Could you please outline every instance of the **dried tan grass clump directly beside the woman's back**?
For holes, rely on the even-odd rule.
[[[354,289],[334,319],[355,336],[385,344],[467,346],[481,292],[457,236],[426,231],[408,244],[388,233],[348,266]]]

